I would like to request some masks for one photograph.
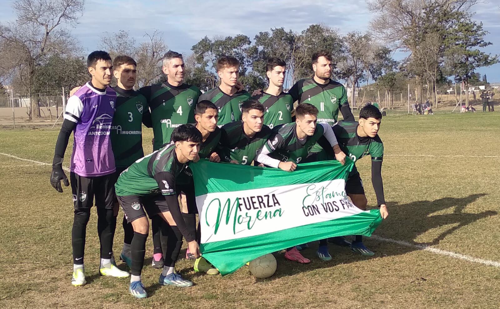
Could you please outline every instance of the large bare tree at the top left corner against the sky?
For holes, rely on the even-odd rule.
[[[51,54],[69,55],[78,50],[64,25],[75,26],[84,0],[17,0],[17,18],[0,24],[0,73],[17,75],[24,94],[31,96],[35,66]],[[3,58],[3,54],[7,54]],[[12,77],[12,76],[10,76]],[[30,104],[28,116],[40,116],[39,106]]]

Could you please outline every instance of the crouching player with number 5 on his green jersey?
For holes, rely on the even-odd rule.
[[[250,165],[257,150],[267,140],[271,129],[264,124],[264,106],[257,100],[244,101],[241,110],[243,112],[241,121],[222,126],[219,142],[220,159],[223,162]]]

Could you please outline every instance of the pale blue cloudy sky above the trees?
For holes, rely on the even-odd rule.
[[[0,0],[0,22],[15,19],[12,1]],[[483,22],[490,33],[485,39],[493,43],[483,51],[500,54],[500,0],[486,0],[473,6],[473,19]],[[189,0],[130,1],[86,0],[83,15],[70,28],[83,50],[99,49],[105,32],[129,31],[136,41],[155,29],[172,50],[189,54],[190,48],[205,35],[234,36],[242,33],[253,40],[259,31],[284,27],[301,31],[312,23],[324,23],[345,34],[352,30],[366,32],[374,17],[365,0]],[[395,59],[404,57],[396,51]],[[500,82],[500,64],[477,69],[489,82]]]

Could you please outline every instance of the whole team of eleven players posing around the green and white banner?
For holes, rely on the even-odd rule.
[[[355,161],[370,154],[372,183],[380,213],[385,218],[388,213],[380,175],[383,145],[377,135],[381,115],[377,109],[368,107],[364,117],[361,111],[359,124],[354,122],[345,88],[330,79],[329,53],[316,52],[311,60],[314,76],[299,80],[285,93],[282,85],[286,64],[277,58],[269,59],[266,66],[269,86],[264,91],[254,91],[251,97],[248,92],[238,90],[239,63],[233,57],[217,60],[221,83],[201,94],[198,88],[183,82],[184,64],[179,53],[169,51],[163,57],[166,82],[134,91],[136,63],[132,58],[118,56],[111,63],[107,53],[92,52],[87,58],[92,79],[68,100],[51,174],[52,186],[58,191],[62,191],[60,180],[69,184],[61,164],[73,131],[72,284],[85,283],[85,229],[94,198],[101,243],[99,271],[102,275],[128,276],[128,272],[116,267],[112,254],[118,210],[115,196],[125,212],[120,257],[131,270],[129,291],[132,295],[146,296],[140,280],[149,230],[145,212],[152,221],[152,264],[163,266],[160,284],[192,285],[174,269],[182,236],[188,242],[186,258],[197,258],[195,269],[216,273],[216,269],[210,269],[198,258],[197,211],[186,163],[199,157],[238,164],[254,162],[292,171],[300,162],[334,157],[343,162],[346,154]],[[111,74],[117,80],[117,86],[112,88],[108,87]],[[298,106],[294,110],[295,101]],[[338,110],[344,120],[332,130]],[[323,123],[316,125],[316,121]],[[153,152],[145,157],[142,123],[152,127],[154,135]],[[194,126],[182,125],[186,123]],[[346,191],[356,206],[366,207],[362,182],[355,169],[349,175]],[[182,206],[178,204],[177,195],[181,196]],[[361,254],[373,254],[362,244],[360,236],[354,236],[352,243],[343,238],[330,240],[350,245]],[[320,241],[316,254],[321,259],[331,259],[326,239]],[[309,262],[295,247],[288,248],[285,257]]]

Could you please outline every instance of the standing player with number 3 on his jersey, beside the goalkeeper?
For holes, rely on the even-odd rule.
[[[137,78],[136,66],[135,60],[126,55],[116,56],[113,60],[113,75],[116,78],[116,86],[112,88],[116,91],[116,103],[111,124],[111,146],[117,175],[144,156],[142,123],[151,127],[151,114],[146,98],[133,90]],[[123,216],[122,226],[123,249],[120,259],[130,267],[130,243],[133,229],[132,225],[126,221],[125,216]]]

